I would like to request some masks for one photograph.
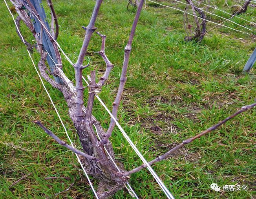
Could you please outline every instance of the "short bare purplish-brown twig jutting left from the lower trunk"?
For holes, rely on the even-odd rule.
[[[75,152],[76,154],[79,154],[80,156],[84,156],[87,159],[99,162],[99,159],[93,156],[90,156],[88,154],[85,154],[84,152],[77,150],[76,148],[71,147],[70,145],[68,145],[66,142],[64,142],[63,140],[61,140],[59,137],[55,136],[55,134],[53,134],[53,132],[51,132],[49,129],[47,129],[44,125],[42,125],[42,123],[38,120],[33,121],[34,123],[36,123],[38,126],[40,126],[49,136],[51,136],[53,139],[55,139],[60,145],[62,145],[63,147],[66,147],[68,149],[70,149],[71,151]]]

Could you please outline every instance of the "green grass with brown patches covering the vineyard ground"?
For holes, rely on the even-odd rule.
[[[94,1],[71,0],[67,3],[56,0],[53,3],[59,16],[59,43],[75,62],[84,37],[81,26],[88,24]],[[219,8],[228,10],[223,7],[224,3],[224,0],[214,1]],[[165,4],[184,8],[182,4],[169,1]],[[228,1],[228,4],[233,3]],[[134,10],[126,10],[126,5],[126,1],[105,1],[96,23],[98,31],[107,35],[106,54],[115,65],[100,94],[109,108],[117,92],[123,50],[135,15]],[[49,10],[47,12],[49,15]],[[241,17],[255,22],[255,15],[256,9],[249,7]],[[40,119],[67,140],[3,2],[0,3],[0,17],[0,198],[53,197],[75,178],[77,181],[71,190],[58,197],[93,198],[75,156],[31,122]],[[216,16],[208,15],[208,19],[220,22]],[[255,34],[255,28],[249,23],[238,18],[232,20],[254,29]],[[230,22],[224,24],[243,30]],[[207,23],[207,29],[211,27],[214,24]],[[33,42],[24,25],[22,32]],[[147,160],[218,123],[256,98],[256,66],[250,74],[241,73],[255,48],[255,37],[223,27],[212,30],[201,43],[186,43],[184,36],[182,13],[153,7],[151,3],[143,8],[133,41],[119,118]],[[88,52],[98,51],[100,44],[99,36],[93,34]],[[99,78],[105,64],[97,54],[91,54],[91,66],[84,70],[84,75],[95,69]],[[35,63],[39,61],[37,52],[33,53],[33,59]],[[64,56],[62,61],[64,72],[74,80],[73,67]],[[75,129],[62,94],[48,83],[46,87],[74,140]],[[97,100],[93,114],[105,129],[108,128],[110,117]],[[256,195],[255,119],[255,110],[245,112],[153,168],[176,198],[253,198]],[[116,158],[127,170],[141,165],[117,128],[111,141]],[[79,147],[77,137],[75,144]],[[9,188],[29,173],[32,175]],[[49,176],[66,176],[71,180],[44,179]],[[147,170],[133,174],[130,183],[141,198],[165,198]],[[214,192],[210,190],[211,183],[247,185],[249,189]],[[93,184],[97,187],[96,181],[93,180]],[[122,190],[113,198],[131,197]]]

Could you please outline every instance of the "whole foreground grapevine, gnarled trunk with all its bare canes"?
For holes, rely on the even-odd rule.
[[[79,136],[80,144],[82,146],[83,152],[67,145],[59,139],[57,136],[53,134],[50,130],[48,130],[46,127],[44,127],[39,121],[35,121],[42,129],[46,131],[51,137],[53,137],[60,145],[69,148],[73,152],[80,154],[81,161],[84,165],[84,168],[87,170],[88,174],[95,177],[98,179],[99,182],[99,188],[98,188],[98,197],[99,198],[106,198],[109,197],[121,188],[124,187],[124,184],[128,181],[130,174],[137,172],[143,168],[146,167],[146,165],[141,165],[138,168],[133,169],[132,171],[126,172],[123,170],[123,165],[122,163],[115,161],[115,156],[113,152],[113,147],[112,144],[109,141],[109,137],[112,135],[113,128],[115,127],[115,121],[111,119],[110,121],[110,126],[107,130],[107,132],[104,132],[101,124],[95,117],[92,115],[92,109],[93,109],[93,101],[95,95],[100,91],[102,85],[108,80],[108,76],[113,68],[113,64],[108,60],[106,54],[105,54],[105,42],[106,42],[106,36],[99,34],[102,39],[102,45],[101,45],[101,50],[99,51],[99,55],[102,57],[104,62],[106,63],[106,71],[102,78],[100,78],[99,83],[96,83],[96,74],[95,71],[91,71],[91,76],[90,76],[90,85],[88,86],[88,100],[87,100],[87,106],[84,106],[83,102],[83,91],[84,87],[82,84],[82,70],[88,65],[83,66],[83,60],[84,56],[86,54],[91,35],[95,31],[95,21],[97,18],[97,15],[99,13],[99,9],[102,3],[102,0],[97,0],[95,3],[95,8],[93,11],[93,14],[91,16],[91,20],[89,25],[86,27],[86,34],[84,38],[84,42],[79,54],[79,57],[77,59],[77,62],[75,63],[75,78],[76,78],[76,86],[73,85],[72,81],[69,80],[64,72],[61,70],[62,68],[62,60],[60,58],[60,53],[57,47],[57,43],[55,41],[55,38],[57,38],[56,33],[53,33],[53,28],[52,28],[52,33],[47,32],[49,38],[51,38],[51,42],[53,43],[55,54],[57,56],[58,63],[55,66],[53,72],[49,72],[48,66],[46,66],[46,57],[47,53],[43,50],[42,46],[42,33],[44,29],[43,21],[40,19],[40,16],[36,12],[35,8],[33,5],[31,5],[31,2],[27,0],[27,4],[23,5],[22,0],[11,0],[13,5],[16,8],[16,12],[19,15],[19,18],[17,18],[16,23],[19,23],[20,20],[22,20],[27,27],[30,29],[31,33],[33,33],[33,36],[35,37],[36,40],[36,47],[37,51],[40,53],[41,60],[38,63],[38,69],[40,70],[41,76],[48,81],[48,83],[51,84],[54,88],[60,90],[62,92],[64,99],[67,103],[68,106],[68,112],[71,120],[73,121],[73,125],[75,126],[77,130],[77,134]],[[49,3],[50,2],[50,3]],[[187,2],[191,2],[191,0],[187,0]],[[53,6],[51,1],[48,0],[48,3],[50,4],[50,7]],[[122,73],[121,73],[121,78],[120,78],[120,83],[119,83],[119,89],[117,91],[117,96],[115,98],[115,101],[113,103],[113,109],[112,109],[112,114],[115,118],[117,118],[117,111],[118,107],[120,105],[121,101],[121,96],[123,94],[124,90],[124,85],[126,82],[126,73],[128,69],[128,63],[129,63],[129,58],[130,58],[130,53],[132,50],[132,40],[135,34],[135,29],[139,20],[139,16],[141,13],[141,9],[143,7],[144,0],[141,0],[137,13],[135,15],[133,25],[132,25],[132,30],[128,39],[128,43],[124,49],[124,62],[123,62],[123,68],[122,68]],[[26,7],[26,10],[24,9],[24,6]],[[199,14],[202,13],[199,9],[196,7],[193,7],[193,12],[197,11]],[[54,9],[51,9],[52,13]],[[29,13],[29,14],[27,14]],[[33,27],[33,24],[31,22],[31,16],[37,17],[38,20],[41,23],[41,31],[40,33],[37,33]],[[203,17],[203,16],[202,16]],[[57,21],[56,14],[53,14],[53,21]],[[52,21],[52,22],[53,22]],[[198,22],[198,21],[197,21]],[[203,20],[204,22],[204,20]],[[199,24],[197,24],[199,26]],[[55,26],[57,27],[57,22],[55,22]],[[19,26],[18,26],[19,27]],[[53,25],[52,25],[53,27]],[[202,31],[205,31],[203,29]],[[19,32],[19,36],[22,37],[22,35]],[[56,31],[57,32],[57,31]],[[200,39],[200,38],[199,38]],[[24,42],[26,44],[26,42]],[[62,80],[63,84],[59,84],[53,80],[53,76],[57,76]],[[178,150],[179,148],[183,147],[184,145],[192,142],[194,139],[197,139],[206,133],[215,130],[217,127],[228,121],[229,119],[234,118],[234,116],[240,114],[241,112],[251,109],[252,107],[256,106],[256,103],[249,105],[247,107],[242,107],[241,110],[230,116],[229,118],[224,119],[223,121],[219,122],[217,125],[205,130],[204,132],[201,132],[195,137],[192,137],[190,139],[187,139],[183,141],[180,145],[177,147],[173,148],[172,150],[168,151],[166,154],[163,154],[162,156],[157,157],[156,159],[152,160],[149,162],[149,164],[156,163],[158,161],[161,161],[168,157],[172,152],[175,150]],[[99,134],[100,140],[97,138],[95,134],[94,127],[97,129],[97,133]],[[106,151],[110,154],[110,156],[106,155]],[[117,168],[116,165],[112,162],[113,159],[119,167]]]

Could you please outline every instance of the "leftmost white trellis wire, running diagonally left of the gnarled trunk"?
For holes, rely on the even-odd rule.
[[[12,16],[12,18],[13,18],[13,21],[14,21],[14,23],[15,23],[15,26],[16,26],[17,30],[18,30],[18,33],[20,34],[20,37],[22,38],[22,42],[25,43],[24,38],[23,38],[22,34],[20,33],[20,31],[19,31],[19,29],[18,29],[18,26],[17,26],[17,24],[16,24],[16,22],[15,22],[14,16],[13,16],[13,14],[11,13],[11,11],[10,11],[8,5],[7,5],[7,2],[6,2],[5,0],[4,0],[4,2],[5,2],[5,5],[6,5],[8,11],[9,11],[9,13],[11,14],[11,16]],[[64,125],[64,123],[63,123],[63,121],[62,121],[62,119],[60,118],[59,112],[58,112],[57,108],[55,107],[55,104],[53,103],[53,100],[51,99],[51,96],[50,96],[48,90],[46,89],[46,87],[45,87],[45,85],[44,85],[44,82],[43,82],[43,80],[42,80],[42,78],[41,78],[41,76],[40,76],[40,74],[39,74],[39,72],[38,72],[38,70],[37,70],[37,67],[35,66],[35,63],[34,63],[34,61],[33,61],[33,58],[31,57],[31,54],[30,54],[30,52],[29,52],[28,49],[27,49],[27,52],[28,52],[29,57],[30,57],[30,59],[31,59],[31,61],[32,61],[32,63],[33,63],[33,66],[34,66],[34,68],[35,68],[35,70],[36,70],[36,72],[37,72],[37,74],[38,74],[38,76],[39,76],[39,78],[40,78],[40,81],[41,81],[41,83],[42,83],[42,85],[43,85],[43,87],[44,87],[44,90],[46,91],[46,93],[47,93],[47,95],[48,95],[48,97],[49,97],[49,99],[50,99],[50,101],[51,101],[51,104],[53,105],[53,107],[54,107],[54,109],[55,109],[55,111],[56,111],[56,113],[57,113],[57,115],[58,115],[58,117],[59,117],[59,119],[60,119],[60,123],[62,124],[62,126],[63,126],[63,128],[64,128],[64,130],[65,130],[65,132],[66,132],[66,135],[67,135],[67,137],[68,137],[68,139],[69,139],[69,142],[70,142],[71,146],[74,147],[74,146],[73,146],[73,143],[72,143],[72,141],[71,141],[71,139],[70,139],[70,137],[69,137],[69,135],[68,135],[67,129],[66,129],[66,127],[65,127],[65,125]],[[80,165],[82,166],[82,169],[83,169],[83,171],[84,171],[84,174],[86,175],[86,177],[87,177],[87,179],[88,179],[88,181],[89,181],[89,183],[90,183],[90,186],[91,186],[91,189],[93,190],[93,193],[95,194],[96,198],[99,199],[99,197],[97,196],[97,193],[96,193],[95,189],[93,188],[93,185],[92,185],[92,183],[91,183],[91,181],[90,181],[90,178],[89,178],[88,174],[86,173],[86,171],[85,171],[85,169],[84,169],[84,166],[82,165],[82,163],[81,163],[81,161],[80,161],[80,159],[79,159],[79,157],[78,157],[77,154],[76,154],[76,156],[77,156],[77,159],[78,159]]]

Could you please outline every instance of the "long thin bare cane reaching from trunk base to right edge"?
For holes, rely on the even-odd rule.
[[[178,150],[179,148],[183,147],[184,145],[187,145],[189,143],[191,143],[192,141],[194,141],[195,139],[201,137],[201,136],[204,136],[205,134],[215,130],[216,128],[218,128],[219,126],[223,125],[224,123],[226,123],[227,121],[229,121],[230,119],[234,118],[235,116],[237,116],[238,114],[242,113],[242,112],[245,112],[246,110],[249,110],[249,109],[252,109],[254,106],[256,106],[256,103],[253,103],[251,105],[247,105],[247,106],[244,106],[242,107],[240,110],[238,110],[236,113],[232,114],[231,116],[227,117],[226,119],[220,121],[218,124],[210,127],[210,128],[207,128],[207,130],[204,130],[203,132],[197,134],[196,136],[194,137],[191,137],[189,139],[186,139],[184,141],[182,141],[181,144],[177,145],[176,147],[172,148],[171,150],[169,150],[168,152],[166,152],[165,154],[163,154],[162,156],[159,156],[157,158],[155,158],[154,160],[150,161],[148,164],[149,165],[152,165],[156,162],[159,162],[163,159],[165,159],[166,157],[170,156],[170,154],[172,154],[173,152],[175,152],[176,150]],[[127,175],[131,175],[135,172],[138,172],[139,170],[143,169],[143,168],[146,168],[147,165],[146,164],[143,164],[137,168],[134,168],[133,170],[131,171],[128,171],[128,172],[124,172],[123,175],[124,176],[127,176]]]

